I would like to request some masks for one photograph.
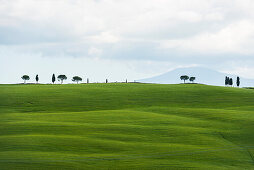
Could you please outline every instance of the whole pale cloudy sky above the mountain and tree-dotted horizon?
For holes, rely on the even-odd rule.
[[[0,0],[0,83],[189,66],[254,78],[253,56],[253,0]]]

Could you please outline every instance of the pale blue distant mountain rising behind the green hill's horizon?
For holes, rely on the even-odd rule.
[[[178,84],[183,82],[180,80],[180,76],[182,75],[188,75],[189,77],[191,76],[196,77],[195,83],[216,85],[216,86],[224,86],[225,76],[229,76],[233,78],[234,86],[236,86],[237,75],[221,73],[215,70],[202,68],[202,67],[178,68],[159,76],[137,80],[137,81],[142,83]],[[241,78],[241,87],[253,87],[253,86],[254,86],[254,80]]]

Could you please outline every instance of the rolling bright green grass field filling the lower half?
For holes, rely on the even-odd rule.
[[[0,169],[254,169],[254,90],[0,85]]]

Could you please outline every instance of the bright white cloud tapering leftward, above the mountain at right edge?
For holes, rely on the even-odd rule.
[[[161,43],[161,47],[203,54],[254,54],[254,49],[251,48],[254,43],[253,38],[254,22],[239,21],[215,33],[205,32],[191,38],[164,41]]]

